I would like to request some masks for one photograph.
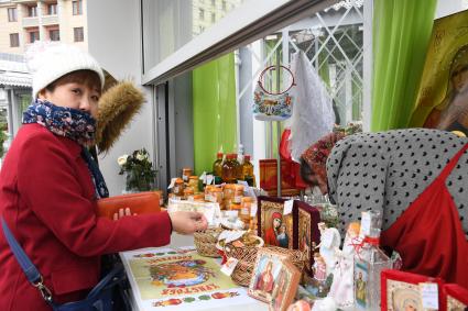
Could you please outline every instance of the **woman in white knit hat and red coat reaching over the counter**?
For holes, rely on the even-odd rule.
[[[96,200],[108,193],[85,148],[94,144],[102,71],[78,48],[39,46],[30,62],[34,102],[0,173],[0,212],[54,301],[63,303],[85,298],[98,282],[101,255],[166,245],[172,231],[193,233],[207,223],[191,212],[96,216]],[[3,233],[0,263],[0,310],[51,310]]]

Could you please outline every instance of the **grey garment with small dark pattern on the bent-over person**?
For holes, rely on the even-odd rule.
[[[341,233],[368,209],[383,211],[382,226],[388,229],[467,143],[466,137],[427,129],[359,133],[339,141],[327,160],[327,178]],[[468,238],[468,152],[446,185]]]

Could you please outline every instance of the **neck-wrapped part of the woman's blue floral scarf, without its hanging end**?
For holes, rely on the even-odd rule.
[[[23,124],[31,123],[41,124],[55,135],[68,137],[81,146],[95,144],[96,120],[78,109],[36,99],[23,113]]]

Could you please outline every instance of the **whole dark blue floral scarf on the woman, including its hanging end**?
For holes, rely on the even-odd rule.
[[[96,197],[109,197],[102,174],[87,149],[95,144],[96,133],[96,120],[89,113],[36,99],[23,113],[23,124],[30,123],[41,124],[55,135],[68,137],[81,145],[81,156],[91,174]]]

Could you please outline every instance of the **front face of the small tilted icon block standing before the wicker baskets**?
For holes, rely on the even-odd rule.
[[[287,255],[266,248],[259,249],[249,285],[249,295],[264,302],[270,302],[282,268],[282,260],[287,258]]]

